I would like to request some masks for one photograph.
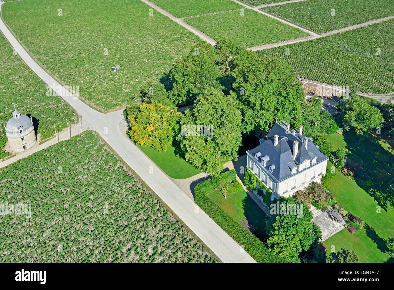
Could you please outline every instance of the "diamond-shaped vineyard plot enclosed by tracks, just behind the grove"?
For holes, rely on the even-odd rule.
[[[214,39],[231,36],[246,47],[275,43],[288,39],[309,36],[306,32],[253,11],[229,11],[191,17],[185,22],[205,32]]]

